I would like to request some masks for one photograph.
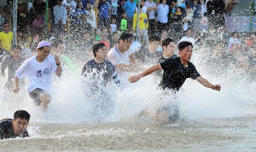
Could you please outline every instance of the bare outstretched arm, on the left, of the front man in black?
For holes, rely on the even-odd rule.
[[[151,74],[152,72],[156,71],[156,70],[162,70],[162,67],[160,65],[160,63],[151,66],[150,68],[146,69],[144,72],[142,72],[141,74],[138,74],[136,76],[131,76],[130,78],[128,78],[128,81],[130,83],[134,83],[137,82],[138,80],[140,80],[140,78],[147,76],[149,74]]]

